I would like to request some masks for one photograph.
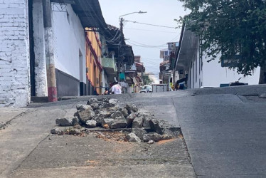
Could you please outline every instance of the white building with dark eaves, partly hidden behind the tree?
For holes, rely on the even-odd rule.
[[[204,53],[202,57],[200,54],[199,38],[184,26],[175,65],[175,70],[178,71],[175,81],[187,76],[187,88],[220,87],[235,81],[248,85],[256,85],[259,82],[260,68],[257,68],[252,76],[244,77],[236,70],[225,67],[223,62],[219,63],[220,56],[208,63],[210,58]]]

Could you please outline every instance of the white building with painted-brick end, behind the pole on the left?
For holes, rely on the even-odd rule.
[[[100,4],[51,0],[51,9],[58,96],[85,95],[85,27],[106,26]],[[43,19],[42,0],[0,0],[0,107],[48,95]]]

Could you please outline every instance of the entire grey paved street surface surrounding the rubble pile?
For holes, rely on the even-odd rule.
[[[97,172],[95,175],[102,177],[115,177],[116,174],[130,177],[130,173],[124,174],[120,170],[134,169],[137,177],[141,175],[139,172],[147,177],[266,177],[266,99],[257,96],[265,92],[266,85],[260,85],[110,95],[108,97],[117,98],[121,103],[135,103],[139,108],[153,112],[157,118],[181,127],[186,147],[180,141],[174,142],[176,147],[173,143],[164,147],[172,151],[176,149],[172,153],[176,152],[176,159],[180,159],[178,164],[174,163],[174,156],[174,164],[161,166],[154,162],[144,163],[149,162],[147,158],[143,161],[147,169],[143,169],[145,166],[137,166],[134,156],[131,158],[122,154],[119,157],[127,158],[124,159],[127,163],[132,160],[132,165],[121,162],[117,167],[105,167],[105,171],[101,167],[75,167],[75,162],[80,166],[84,164],[83,159],[90,159],[88,155],[83,159],[75,157],[76,149],[85,144],[81,151],[87,152],[89,142],[95,140],[83,142],[83,139],[62,140],[49,136],[49,130],[55,125],[55,117],[62,117],[67,110],[75,108],[78,103],[86,103],[93,96],[72,98],[58,103],[32,103],[26,111],[23,109],[22,115],[14,117],[5,130],[0,130],[0,175],[10,175],[13,172],[11,177],[27,177],[25,174],[33,177],[58,177],[63,172],[65,176],[73,175],[78,169],[86,177],[87,172],[93,169]],[[8,120],[5,119],[6,121]],[[68,142],[73,143],[65,147],[65,152],[60,152],[60,147]],[[96,148],[90,148],[90,152],[97,150],[97,145],[94,146]],[[111,144],[110,147],[115,145]],[[72,159],[64,158],[63,153],[67,156],[68,148],[73,155]],[[186,148],[191,162],[186,158]],[[143,148],[138,149],[142,153]],[[164,149],[161,147],[160,152]],[[56,157],[53,157],[53,152]],[[104,150],[102,152],[105,153]],[[131,152],[134,155],[134,150]],[[155,152],[158,155],[159,151]],[[95,157],[100,161],[105,160],[102,155]],[[163,160],[163,157],[156,159]],[[165,170],[164,174],[160,170]],[[50,174],[47,175],[47,172]],[[110,174],[105,174],[106,172]],[[148,174],[149,172],[153,174]]]

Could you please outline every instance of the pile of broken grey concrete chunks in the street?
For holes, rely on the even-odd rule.
[[[56,119],[56,124],[64,127],[77,127],[77,125],[86,128],[102,127],[108,132],[125,130],[127,134],[119,141],[128,142],[153,143],[169,140],[179,135],[179,128],[169,125],[164,120],[156,120],[154,115],[146,110],[139,110],[134,104],[120,107],[116,99],[91,98],[87,105],[77,105],[76,108],[77,111],[73,117]],[[80,130],[77,129],[69,132],[72,135],[80,135]],[[51,130],[51,133],[63,134],[58,129]]]

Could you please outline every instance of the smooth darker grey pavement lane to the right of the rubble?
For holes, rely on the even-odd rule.
[[[142,100],[174,101],[198,177],[266,177],[266,99],[258,98],[265,92],[266,85],[250,85],[152,93]]]

